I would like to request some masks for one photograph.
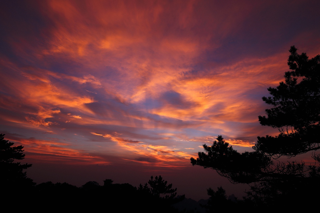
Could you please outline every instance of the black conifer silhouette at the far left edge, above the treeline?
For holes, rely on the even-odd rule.
[[[32,164],[20,164],[20,162],[15,161],[24,159],[23,146],[12,147],[13,144],[4,140],[4,134],[0,134],[0,184],[2,190],[22,190],[35,185],[23,171]]]

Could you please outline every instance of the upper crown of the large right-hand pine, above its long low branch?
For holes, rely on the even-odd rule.
[[[294,46],[289,51],[291,71],[279,86],[268,88],[272,97],[262,97],[273,108],[266,109],[267,117],[259,116],[260,124],[280,131],[277,137],[258,137],[254,149],[268,156],[291,157],[320,148],[320,55],[308,59]]]

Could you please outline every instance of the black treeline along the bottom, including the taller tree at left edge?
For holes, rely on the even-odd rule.
[[[14,143],[4,140],[0,134],[0,169],[2,194],[1,203],[7,211],[17,208],[33,212],[47,211],[109,211],[109,212],[184,212],[204,213],[216,210],[237,209],[251,202],[227,199],[225,191],[208,189],[209,200],[195,202],[177,196],[177,188],[172,188],[161,175],[151,176],[148,183],[134,187],[129,183],[113,184],[105,179],[103,186],[96,181],[89,181],[81,187],[66,182],[51,181],[36,185],[28,178],[25,169],[31,164],[20,164],[15,160],[24,159],[23,147],[13,147]]]

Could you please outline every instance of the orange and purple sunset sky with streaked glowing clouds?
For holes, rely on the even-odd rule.
[[[318,1],[2,1],[0,133],[36,183],[223,186],[190,157],[218,135],[239,152],[288,71],[290,46],[320,53]]]

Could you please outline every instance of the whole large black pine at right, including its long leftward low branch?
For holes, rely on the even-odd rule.
[[[304,162],[274,162],[281,156],[291,158],[320,148],[320,55],[308,59],[294,46],[289,51],[291,71],[285,72],[285,81],[279,86],[268,88],[272,96],[262,100],[273,107],[266,109],[267,116],[259,116],[261,125],[278,128],[280,134],[258,137],[252,147],[255,151],[244,153],[233,150],[219,135],[212,146],[203,145],[205,153],[191,158],[192,165],[212,168],[233,183],[253,183],[248,195],[268,205],[297,202],[301,194],[306,201],[314,200],[312,190],[320,189],[316,164],[306,167]],[[319,162],[319,154],[312,156]]]

